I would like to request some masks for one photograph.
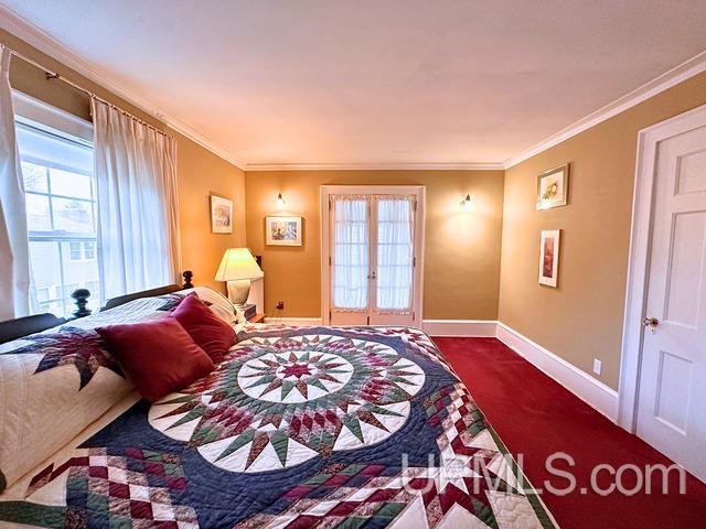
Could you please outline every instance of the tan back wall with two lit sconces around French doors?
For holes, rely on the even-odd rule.
[[[247,172],[247,244],[263,255],[268,315],[321,315],[319,187],[324,184],[426,185],[425,319],[488,319],[498,314],[502,171],[290,171]],[[302,247],[265,246],[265,216],[304,217]],[[470,193],[474,210],[459,203]],[[285,310],[275,310],[277,301]]]

